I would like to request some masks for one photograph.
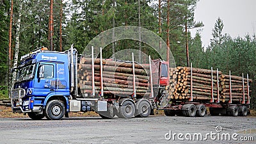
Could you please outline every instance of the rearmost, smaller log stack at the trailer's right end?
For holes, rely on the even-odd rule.
[[[249,84],[248,84],[249,82]],[[252,79],[246,79],[241,76],[223,75],[221,77],[222,102],[247,102],[248,101],[248,85],[252,83]],[[231,87],[230,87],[231,86]],[[250,87],[250,86],[249,86]],[[250,90],[249,90],[250,92]],[[244,99],[243,99],[244,97]],[[230,100],[231,98],[231,100]]]

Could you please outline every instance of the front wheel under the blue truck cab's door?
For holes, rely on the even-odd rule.
[[[65,115],[65,106],[60,100],[51,100],[45,108],[45,116],[49,120],[61,120]]]

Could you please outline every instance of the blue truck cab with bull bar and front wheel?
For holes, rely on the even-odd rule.
[[[68,112],[70,72],[67,52],[36,49],[21,57],[11,92],[12,110],[32,119],[58,119]],[[76,52],[76,51],[74,51]],[[51,102],[52,113],[44,111]],[[67,110],[66,110],[67,109]],[[48,113],[44,115],[43,113]]]

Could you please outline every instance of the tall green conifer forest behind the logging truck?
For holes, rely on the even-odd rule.
[[[163,38],[177,66],[218,68],[253,79],[252,108],[256,100],[256,36],[231,37],[223,33],[219,17],[211,44],[202,47],[204,22],[195,21],[198,0],[0,0],[0,97],[8,98],[12,74],[20,56],[38,47],[65,51],[74,44],[79,53],[100,33],[119,26],[149,29]],[[191,36],[191,29],[198,31]],[[159,45],[160,46],[160,45]],[[157,58],[147,44],[120,40],[104,49],[104,58],[124,49],[138,49]]]

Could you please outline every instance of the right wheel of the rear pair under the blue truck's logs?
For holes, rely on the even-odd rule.
[[[136,111],[136,117],[145,118],[150,115],[151,108],[147,101],[141,101],[138,106],[138,111]]]

